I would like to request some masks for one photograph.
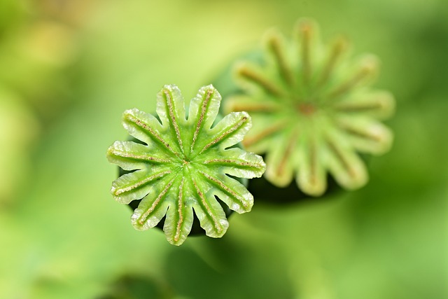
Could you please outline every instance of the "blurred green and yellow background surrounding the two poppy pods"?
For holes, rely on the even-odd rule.
[[[302,17],[381,59],[395,142],[370,183],[255,199],[222,239],[134,230],[109,194],[121,113]],[[447,114],[446,0],[0,0],[0,298],[448,298]]]

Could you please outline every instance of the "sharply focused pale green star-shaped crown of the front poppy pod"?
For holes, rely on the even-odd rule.
[[[107,158],[135,170],[113,181],[111,188],[123,204],[143,198],[132,215],[134,228],[153,228],[166,215],[167,240],[180,245],[190,233],[193,213],[209,237],[225,234],[228,221],[216,197],[237,213],[251,210],[253,196],[230,176],[259,177],[265,163],[259,155],[232,147],[248,132],[251,118],[235,112],[215,123],[220,103],[218,91],[205,86],[187,114],[179,88],[165,85],[158,93],[159,118],[138,109],[125,111],[125,129],[145,144],[116,141]]]

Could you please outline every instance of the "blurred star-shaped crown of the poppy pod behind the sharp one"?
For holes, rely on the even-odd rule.
[[[319,196],[330,174],[346,189],[360,188],[368,174],[358,153],[385,153],[393,139],[380,121],[393,113],[393,96],[369,88],[377,59],[350,60],[343,38],[325,46],[309,20],[293,36],[269,32],[263,62],[237,65],[243,92],[227,98],[224,111],[251,113],[243,144],[266,155],[265,178],[275,186],[295,179],[304,193]]]

